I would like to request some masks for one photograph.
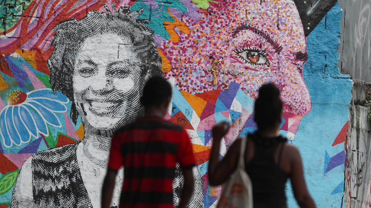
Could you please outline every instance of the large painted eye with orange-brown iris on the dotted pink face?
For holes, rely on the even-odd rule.
[[[235,49],[234,52],[246,64],[267,65],[269,67],[269,62],[266,58],[268,54],[266,51],[256,47],[243,47],[240,49]]]

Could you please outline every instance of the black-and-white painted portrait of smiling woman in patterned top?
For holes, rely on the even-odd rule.
[[[107,9],[108,10],[108,9]],[[109,10],[108,10],[109,11]],[[14,207],[99,207],[112,133],[142,113],[144,83],[161,75],[161,57],[141,14],[129,7],[91,11],[55,28],[48,60],[50,85],[71,101],[70,118],[84,127],[83,140],[33,154],[17,177]],[[195,171],[195,194],[189,207],[203,207],[203,183]],[[177,204],[180,172],[174,181]],[[118,206],[124,179],[116,177],[112,207]]]

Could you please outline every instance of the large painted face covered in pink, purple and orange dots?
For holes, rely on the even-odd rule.
[[[198,93],[226,88],[225,70],[226,83],[239,83],[253,99],[263,83],[276,83],[289,117],[311,110],[302,75],[306,40],[292,0],[229,0],[199,12],[199,21],[183,18],[189,34],[161,45],[172,67],[166,76],[175,77],[179,89]],[[209,70],[220,58],[215,87]]]

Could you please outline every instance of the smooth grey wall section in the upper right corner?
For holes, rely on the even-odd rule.
[[[354,79],[371,82],[371,2],[368,0],[339,0],[341,19],[341,73]]]

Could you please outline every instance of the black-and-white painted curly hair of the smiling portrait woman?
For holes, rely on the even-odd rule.
[[[133,51],[143,64],[141,76],[148,72],[150,76],[162,75],[161,57],[153,38],[154,31],[144,25],[148,20],[138,19],[142,10],[132,12],[128,6],[113,10],[113,13],[93,10],[80,20],[75,18],[65,20],[54,28],[56,31],[52,41],[54,50],[47,62],[50,70],[50,86],[54,91],[62,92],[72,101],[70,117],[75,123],[78,115],[73,99],[72,77],[75,56],[87,38],[105,33],[114,33],[123,38],[129,38]]]

